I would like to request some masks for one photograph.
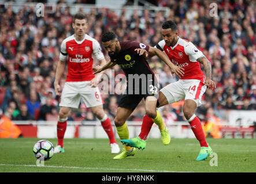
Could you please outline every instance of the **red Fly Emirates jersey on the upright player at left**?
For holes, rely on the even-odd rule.
[[[63,40],[60,60],[68,62],[66,82],[91,81],[94,78],[92,71],[94,56],[98,60],[104,58],[98,41],[87,34],[81,41],[75,39],[75,34]]]

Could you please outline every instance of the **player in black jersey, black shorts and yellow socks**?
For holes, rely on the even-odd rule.
[[[159,49],[136,41],[118,41],[116,34],[113,32],[103,33],[101,39],[103,47],[110,56],[110,62],[103,67],[94,67],[96,70],[94,74],[118,64],[127,77],[127,89],[118,103],[117,115],[114,119],[120,139],[129,139],[129,131],[125,121],[144,98],[146,114],[158,125],[162,142],[165,145],[169,144],[168,129],[162,121],[161,114],[156,109],[158,99],[157,79],[144,56],[139,55],[136,49],[146,49],[147,52],[154,53],[170,67],[173,74],[179,77],[184,74],[183,68],[175,66]],[[135,148],[124,146],[125,150],[115,156],[114,159],[124,159],[135,154]]]

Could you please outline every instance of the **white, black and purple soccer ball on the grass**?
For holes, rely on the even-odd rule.
[[[53,157],[54,147],[48,140],[39,140],[33,148],[36,159],[49,160]]]

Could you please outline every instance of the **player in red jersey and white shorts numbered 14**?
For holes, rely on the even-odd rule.
[[[201,150],[196,160],[205,160],[213,151],[206,143],[201,121],[196,117],[195,111],[196,108],[201,105],[202,95],[205,93],[206,88],[214,90],[216,87],[216,84],[212,81],[212,65],[194,44],[178,36],[175,22],[164,22],[162,25],[162,36],[164,40],[159,41],[155,47],[161,51],[165,51],[173,64],[184,68],[185,74],[179,81],[170,83],[160,90],[158,108],[181,101],[182,99],[185,100],[183,106],[184,116],[201,145]],[[154,56],[145,49],[136,49],[136,51],[146,58]],[[200,63],[203,64],[205,76],[201,70]],[[142,131],[139,137],[121,140],[122,143],[132,147],[145,148],[146,139],[152,125],[153,121],[145,114],[142,122]]]

